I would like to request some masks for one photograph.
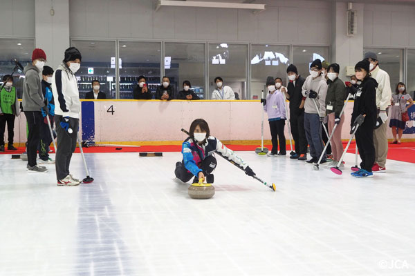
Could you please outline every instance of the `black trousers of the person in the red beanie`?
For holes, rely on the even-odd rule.
[[[42,128],[43,117],[40,111],[25,111],[26,121],[28,121],[28,165],[30,167],[36,166],[37,146],[40,140],[40,128]]]

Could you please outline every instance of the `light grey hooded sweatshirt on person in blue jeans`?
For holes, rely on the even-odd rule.
[[[311,99],[308,97],[308,93],[313,90],[317,92],[317,98]],[[326,93],[327,93],[327,83],[326,78],[320,76],[313,79],[313,77],[308,76],[306,81],[304,81],[302,87],[302,95],[306,98],[304,103],[304,111],[309,114],[318,114],[320,117],[326,116]],[[317,109],[315,109],[315,104],[317,103]]]

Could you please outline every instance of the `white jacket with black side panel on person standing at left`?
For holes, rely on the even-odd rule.
[[[53,99],[57,100],[55,115],[79,119],[81,102],[77,79],[64,63],[53,73],[52,92]]]

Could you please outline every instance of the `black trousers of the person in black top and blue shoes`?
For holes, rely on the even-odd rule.
[[[371,172],[375,163],[375,146],[374,146],[374,127],[362,124],[356,130],[356,144],[358,145],[360,159],[360,168]]]

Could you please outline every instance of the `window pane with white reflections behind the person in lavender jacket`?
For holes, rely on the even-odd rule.
[[[251,46],[251,99],[261,98],[261,90],[265,89],[268,76],[274,79],[276,77],[282,78],[283,84],[286,86],[286,69],[290,65],[289,57],[290,46]]]

